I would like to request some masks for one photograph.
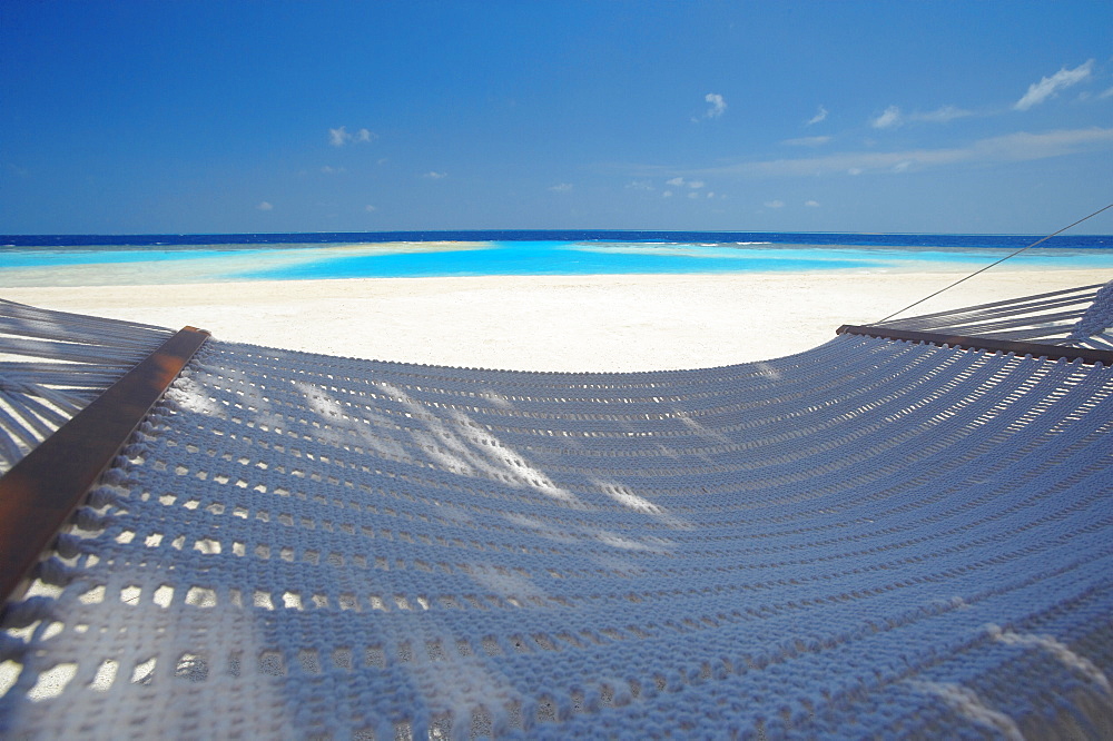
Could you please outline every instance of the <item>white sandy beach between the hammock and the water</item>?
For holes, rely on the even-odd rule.
[[[4,288],[0,297],[332,355],[650,370],[800,352],[830,339],[840,324],[881,319],[967,271],[375,278]],[[1110,277],[995,268],[909,315]]]

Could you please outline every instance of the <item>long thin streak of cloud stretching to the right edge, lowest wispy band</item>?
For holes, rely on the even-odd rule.
[[[833,174],[905,172],[964,162],[1017,162],[1113,149],[1113,128],[1063,129],[1044,134],[1020,131],[978,139],[963,147],[900,151],[850,151],[821,157],[740,162],[690,170],[688,177],[796,177]],[[674,171],[674,170],[673,170]],[[678,176],[670,180],[687,182]]]

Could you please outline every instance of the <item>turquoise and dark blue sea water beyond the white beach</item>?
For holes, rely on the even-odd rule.
[[[0,287],[471,275],[756,270],[971,270],[1036,241],[1025,235],[746,231],[390,231],[0,236]],[[1113,274],[1113,236],[1060,236],[1015,258]],[[1104,277],[1103,277],[1104,276]]]

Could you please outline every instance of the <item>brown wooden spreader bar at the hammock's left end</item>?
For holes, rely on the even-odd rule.
[[[183,328],[0,478],[0,604],[208,337]]]

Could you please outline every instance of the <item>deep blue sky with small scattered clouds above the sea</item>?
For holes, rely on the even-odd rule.
[[[0,233],[1042,234],[1111,201],[1107,0],[0,4]]]

